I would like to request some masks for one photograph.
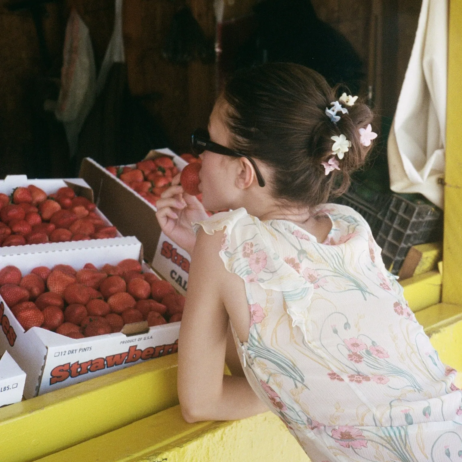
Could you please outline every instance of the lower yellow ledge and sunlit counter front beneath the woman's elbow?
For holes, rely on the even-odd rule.
[[[179,406],[36,462],[309,462],[273,413],[187,424]]]

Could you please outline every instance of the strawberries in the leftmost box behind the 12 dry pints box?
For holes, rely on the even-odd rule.
[[[7,247],[116,237],[116,227],[108,226],[95,208],[68,187],[49,196],[32,184],[16,188],[12,197],[0,193],[0,244]]]

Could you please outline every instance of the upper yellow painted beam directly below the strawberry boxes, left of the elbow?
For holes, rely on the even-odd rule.
[[[0,461],[33,461],[175,406],[176,356],[1,408]]]

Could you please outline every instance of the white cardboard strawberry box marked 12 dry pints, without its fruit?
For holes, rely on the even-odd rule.
[[[26,246],[23,246],[23,249]],[[37,266],[68,264],[78,270],[86,263],[101,267],[125,259],[142,262],[136,237],[30,245],[28,252],[0,255],[7,265],[29,274]],[[152,272],[145,264],[144,272]],[[31,398],[112,371],[177,351],[180,322],[149,328],[147,322],[126,324],[121,332],[73,339],[40,327],[24,331],[0,297],[0,353],[8,351],[26,372],[24,396]]]

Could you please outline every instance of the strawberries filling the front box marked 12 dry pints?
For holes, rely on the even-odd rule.
[[[97,269],[87,263],[0,270],[0,295],[24,328],[41,327],[73,339],[120,332],[125,324],[181,321],[184,297],[140,262],[126,259]]]

